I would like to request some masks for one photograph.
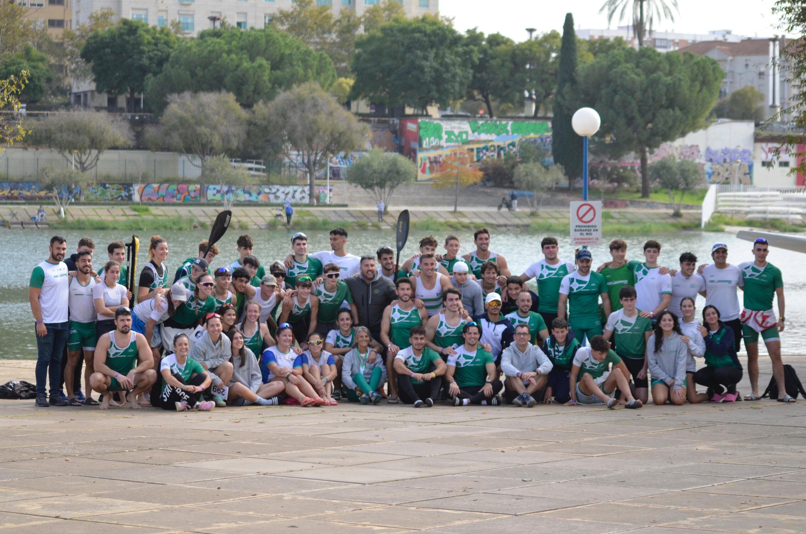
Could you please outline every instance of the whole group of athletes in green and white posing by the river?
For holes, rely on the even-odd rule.
[[[347,231],[334,228],[330,250],[309,254],[298,232],[291,253],[267,272],[243,235],[228,265],[211,267],[220,251],[202,241],[196,256],[169,269],[168,242],[152,236],[132,294],[123,242],[99,260],[85,237],[65,258],[66,240],[54,236],[30,282],[36,405],[208,411],[385,398],[414,407],[640,408],[650,391],[656,404],[733,403],[742,399],[742,338],[751,386],[743,398],[760,398],[759,334],[785,391],[783,280],[765,240],[740,265],[717,243],[713,263],[698,266],[684,252],[669,269],[657,241],[643,245],[638,261],[617,239],[611,260],[594,269],[590,250],[563,260],[546,237],[542,259],[519,276],[491,251],[486,228],[463,256],[457,236],[447,236],[441,253],[434,237],[423,238],[397,271],[392,248],[357,257],[346,244]]]

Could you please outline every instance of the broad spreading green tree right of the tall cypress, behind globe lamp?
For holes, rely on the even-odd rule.
[[[663,54],[625,48],[580,69],[580,104],[599,112],[603,152],[641,156],[642,198],[649,198],[649,152],[699,129],[719,96],[717,61],[691,53]],[[555,152],[556,159],[556,152]]]

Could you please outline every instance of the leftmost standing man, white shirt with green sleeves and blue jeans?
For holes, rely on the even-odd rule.
[[[31,315],[36,323],[36,406],[48,407],[45,385],[50,378],[50,405],[66,406],[67,401],[59,396],[61,354],[67,345],[69,324],[69,276],[64,255],[67,240],[53,236],[48,259],[36,265],[28,283],[28,300]]]

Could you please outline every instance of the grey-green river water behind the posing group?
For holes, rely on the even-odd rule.
[[[239,236],[239,231],[230,229],[224,236],[218,247],[222,254],[220,260],[214,261],[213,266],[228,265],[237,259],[235,251],[235,240]],[[48,243],[53,232],[40,230],[0,230],[0,244],[2,244],[2,255],[0,255],[0,332],[2,332],[2,349],[0,349],[0,359],[31,359],[36,357],[36,340],[34,324],[31,317],[31,308],[28,304],[28,282],[31,277],[31,269],[48,257]],[[68,252],[75,252],[76,244],[81,236],[86,232],[63,232],[68,240]],[[201,240],[206,240],[209,231],[195,230],[189,232],[166,231],[161,235],[168,240],[169,256],[168,266],[171,273],[177,269],[181,261],[185,258],[195,256],[197,244]],[[290,252],[290,232],[285,231],[252,231],[251,236],[255,238],[255,255],[260,261],[268,263],[276,259],[285,257]],[[412,232],[409,241],[401,254],[401,258],[418,251],[418,240],[428,232]],[[447,232],[438,234],[435,237],[442,243]],[[461,253],[470,252],[472,246],[472,232],[459,232],[457,234],[462,244]],[[102,265],[106,261],[106,244],[114,240],[131,240],[131,236],[122,235],[114,231],[94,231],[90,235],[97,245],[96,261],[97,265]],[[147,244],[147,237],[140,236],[142,244]],[[542,257],[540,253],[540,240],[543,236],[526,232],[494,232],[492,235],[493,251],[506,257],[509,268],[513,274],[522,273],[534,261]],[[567,236],[557,236],[560,241],[560,257],[572,260],[573,248],[571,240]],[[610,259],[607,250],[609,240],[616,236],[605,236],[605,243],[593,247],[594,265],[600,261]],[[311,251],[329,249],[327,232],[308,232],[309,249]],[[728,244],[729,258],[731,263],[741,263],[752,260],[750,254],[751,244],[747,241],[738,240],[735,236],[727,233],[708,232],[677,232],[671,234],[654,234],[652,236],[629,236],[627,242],[629,248],[627,257],[630,259],[642,259],[642,244],[649,239],[659,240],[663,244],[660,263],[668,265],[670,268],[677,267],[680,252],[694,252],[700,261],[710,261],[710,252],[713,243],[717,240]],[[372,254],[381,245],[389,245],[394,248],[394,234],[388,231],[368,231],[351,232],[347,240],[347,252],[355,255]],[[139,265],[144,265],[146,261],[145,246],[140,248]],[[787,297],[787,330],[782,335],[782,350],[784,354],[804,353],[804,341],[806,341],[806,277],[804,277],[803,265],[806,256],[798,252],[772,248],[769,261],[781,269],[783,281],[786,287]],[[401,259],[402,263],[402,259]],[[172,276],[172,274],[171,274]],[[704,306],[704,298],[699,298],[697,302],[698,310]],[[776,308],[777,311],[777,308]],[[761,348],[762,353],[765,349]]]

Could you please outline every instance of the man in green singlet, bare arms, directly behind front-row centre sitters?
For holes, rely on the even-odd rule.
[[[386,346],[386,371],[389,377],[388,403],[390,404],[397,404],[395,357],[398,352],[411,345],[409,341],[411,329],[428,321],[426,308],[421,309],[414,306],[411,280],[408,277],[397,278],[395,288],[397,301],[384,309],[384,317],[380,321],[380,342]],[[423,335],[425,335],[425,330]]]

